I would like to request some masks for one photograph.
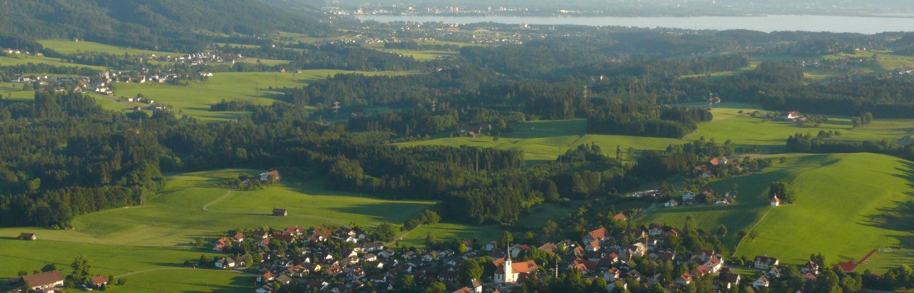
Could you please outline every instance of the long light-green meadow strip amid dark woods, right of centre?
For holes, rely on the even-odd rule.
[[[700,104],[688,104],[698,106]],[[685,136],[685,139],[641,137],[641,136],[604,136],[588,135],[585,132],[586,120],[540,121],[513,125],[515,132],[503,134],[498,141],[494,137],[441,137],[431,140],[414,141],[401,146],[441,145],[441,146],[483,146],[501,149],[518,149],[525,152],[530,162],[554,160],[569,148],[582,144],[594,143],[600,146],[606,155],[615,156],[616,146],[624,151],[628,147],[637,150],[664,149],[666,146],[684,144],[702,136],[715,138],[718,143],[727,139],[738,145],[741,152],[752,152],[756,146],[762,153],[777,153],[784,150],[787,136],[796,133],[810,133],[815,136],[820,130],[839,131],[841,136],[834,139],[851,141],[881,140],[901,142],[905,137],[914,134],[914,120],[876,120],[870,125],[853,129],[846,117],[830,117],[828,122],[813,125],[797,126],[790,122],[764,120],[751,117],[749,113],[759,110],[756,106],[745,103],[722,103],[712,110],[714,120],[698,125],[696,132]],[[742,111],[742,114],[739,112]],[[765,112],[761,112],[764,115]]]

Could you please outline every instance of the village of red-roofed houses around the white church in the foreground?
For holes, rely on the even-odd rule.
[[[613,220],[628,223],[622,213]],[[696,287],[752,291],[767,290],[773,282],[794,275],[815,282],[829,270],[814,258],[803,266],[784,265],[769,255],[733,263],[713,250],[677,251],[671,243],[682,241],[682,230],[664,223],[630,226],[598,227],[579,240],[558,243],[464,240],[454,247],[425,249],[392,247],[374,241],[371,232],[360,228],[290,226],[226,234],[210,245],[224,256],[188,265],[256,275],[251,278],[259,284],[259,293],[290,286],[320,292],[404,291],[437,283],[453,292],[512,292],[566,275],[588,279],[591,286],[607,292],[638,284],[669,292]],[[856,264],[834,267],[850,272]]]

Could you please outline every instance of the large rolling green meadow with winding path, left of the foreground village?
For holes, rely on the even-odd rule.
[[[168,176],[168,188],[142,206],[93,212],[76,217],[72,230],[41,228],[0,229],[0,277],[15,277],[22,269],[31,271],[46,264],[63,268],[76,255],[86,255],[95,273],[123,275],[134,272],[132,283],[162,284],[171,291],[202,287],[202,284],[164,284],[166,277],[146,270],[177,268],[185,260],[211,255],[189,243],[211,238],[236,228],[265,225],[341,225],[349,222],[371,227],[378,222],[400,223],[430,207],[431,201],[388,201],[346,192],[327,191],[319,182],[287,180],[265,190],[232,191],[215,186],[218,179],[253,170],[223,169]],[[208,211],[204,211],[206,207]],[[272,208],[289,209],[289,216],[268,215]],[[441,224],[445,227],[445,224]],[[452,229],[470,229],[454,226]],[[19,233],[37,233],[37,241],[15,240]],[[422,234],[424,240],[424,233]],[[206,270],[181,271],[193,280]],[[152,274],[150,279],[144,279]],[[160,276],[160,277],[155,277]],[[234,276],[222,278],[234,279]],[[143,279],[143,280],[140,280]],[[221,283],[227,285],[229,283]],[[216,282],[214,281],[214,284]],[[177,287],[175,287],[177,286]],[[186,287],[185,287],[186,286]]]

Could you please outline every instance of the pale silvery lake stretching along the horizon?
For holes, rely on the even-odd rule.
[[[914,17],[898,16],[359,16],[377,21],[413,21],[472,24],[495,22],[528,25],[579,25],[611,27],[672,27],[686,29],[751,29],[772,31],[828,31],[876,34],[914,30]]]

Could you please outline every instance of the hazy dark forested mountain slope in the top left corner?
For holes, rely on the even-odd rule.
[[[0,35],[194,51],[206,47],[207,37],[280,30],[321,34],[329,29],[314,10],[283,9],[274,3],[282,1],[292,0],[3,1]]]

